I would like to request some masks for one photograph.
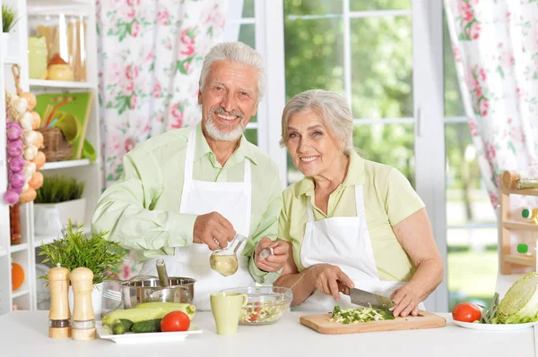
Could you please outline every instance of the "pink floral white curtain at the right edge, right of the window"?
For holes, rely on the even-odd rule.
[[[538,0],[445,0],[465,114],[494,208],[499,175],[538,177]]]

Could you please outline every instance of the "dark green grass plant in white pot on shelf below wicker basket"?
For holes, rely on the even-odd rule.
[[[72,177],[45,177],[34,201],[36,234],[56,235],[69,220],[74,225],[83,225],[86,216],[83,192],[84,183]]]

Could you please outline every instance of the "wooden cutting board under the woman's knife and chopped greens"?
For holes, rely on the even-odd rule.
[[[419,311],[419,316],[398,317],[383,321],[359,322],[343,325],[329,321],[331,314],[301,316],[299,322],[325,335],[356,334],[360,332],[398,331],[420,328],[444,327],[447,320],[428,311]]]

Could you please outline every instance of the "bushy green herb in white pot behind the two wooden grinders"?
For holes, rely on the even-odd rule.
[[[44,256],[44,264],[73,271],[74,268],[89,268],[93,272],[91,303],[96,317],[100,317],[103,282],[113,277],[126,256],[126,251],[117,242],[105,239],[108,232],[91,234],[87,237],[81,227],[75,228],[71,221],[62,235],[49,244],[42,244],[39,256]],[[47,279],[47,276],[39,276]],[[73,311],[73,290],[69,285],[69,306]]]

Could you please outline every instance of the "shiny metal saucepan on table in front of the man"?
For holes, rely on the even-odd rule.
[[[193,303],[195,282],[191,277],[170,276],[169,286],[162,287],[158,277],[134,276],[120,283],[124,309],[143,302]]]

